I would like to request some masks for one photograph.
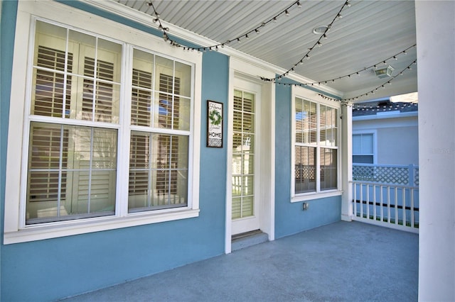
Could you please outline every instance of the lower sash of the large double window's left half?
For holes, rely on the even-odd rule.
[[[117,130],[31,123],[26,223],[114,214]]]

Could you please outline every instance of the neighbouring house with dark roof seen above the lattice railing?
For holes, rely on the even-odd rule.
[[[353,108],[354,164],[419,164],[417,104],[388,99]]]

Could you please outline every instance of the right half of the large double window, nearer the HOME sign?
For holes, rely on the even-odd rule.
[[[189,104],[181,79],[191,69],[136,49],[133,65],[129,212],[188,206],[190,112],[181,107]]]

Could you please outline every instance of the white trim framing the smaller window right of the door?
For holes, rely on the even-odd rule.
[[[321,96],[316,91],[312,91],[310,89],[303,88],[301,86],[292,86],[292,93],[291,93],[291,203],[294,202],[299,202],[299,201],[309,201],[313,199],[319,199],[319,198],[326,198],[326,197],[332,197],[332,196],[341,196],[343,194],[343,191],[341,189],[341,122],[338,121],[338,142],[337,146],[338,150],[337,152],[337,189],[333,190],[323,190],[319,188],[319,172],[316,175],[316,192],[307,192],[307,193],[295,193],[295,169],[294,169],[294,164],[295,164],[295,140],[296,140],[296,121],[294,118],[295,114],[295,99],[301,98],[305,99],[308,101],[312,101],[316,104],[319,105],[326,105],[332,108],[336,108],[338,110],[338,117],[341,115],[341,104],[333,102],[333,101],[328,101],[326,99],[323,99]],[[318,124],[319,124],[319,115],[317,116],[318,119]],[[319,155],[318,155],[319,157]],[[319,162],[316,163],[316,167],[319,167]],[[317,168],[316,168],[317,169]],[[319,171],[319,169],[317,169]]]

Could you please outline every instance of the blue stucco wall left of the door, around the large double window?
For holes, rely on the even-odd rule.
[[[91,13],[152,34],[157,30],[93,9],[80,2],[68,9]],[[2,1],[1,18],[1,213],[4,213],[6,135],[16,1]],[[203,54],[201,118],[206,99],[228,106],[229,58]],[[227,120],[224,121],[225,128]],[[226,136],[225,136],[226,138]],[[226,143],[223,144],[224,146]],[[100,289],[127,280],[221,255],[225,251],[226,147],[205,147],[205,123],[200,140],[200,216],[13,245],[1,242],[1,300],[48,301]],[[3,214],[1,233],[3,233]]]

